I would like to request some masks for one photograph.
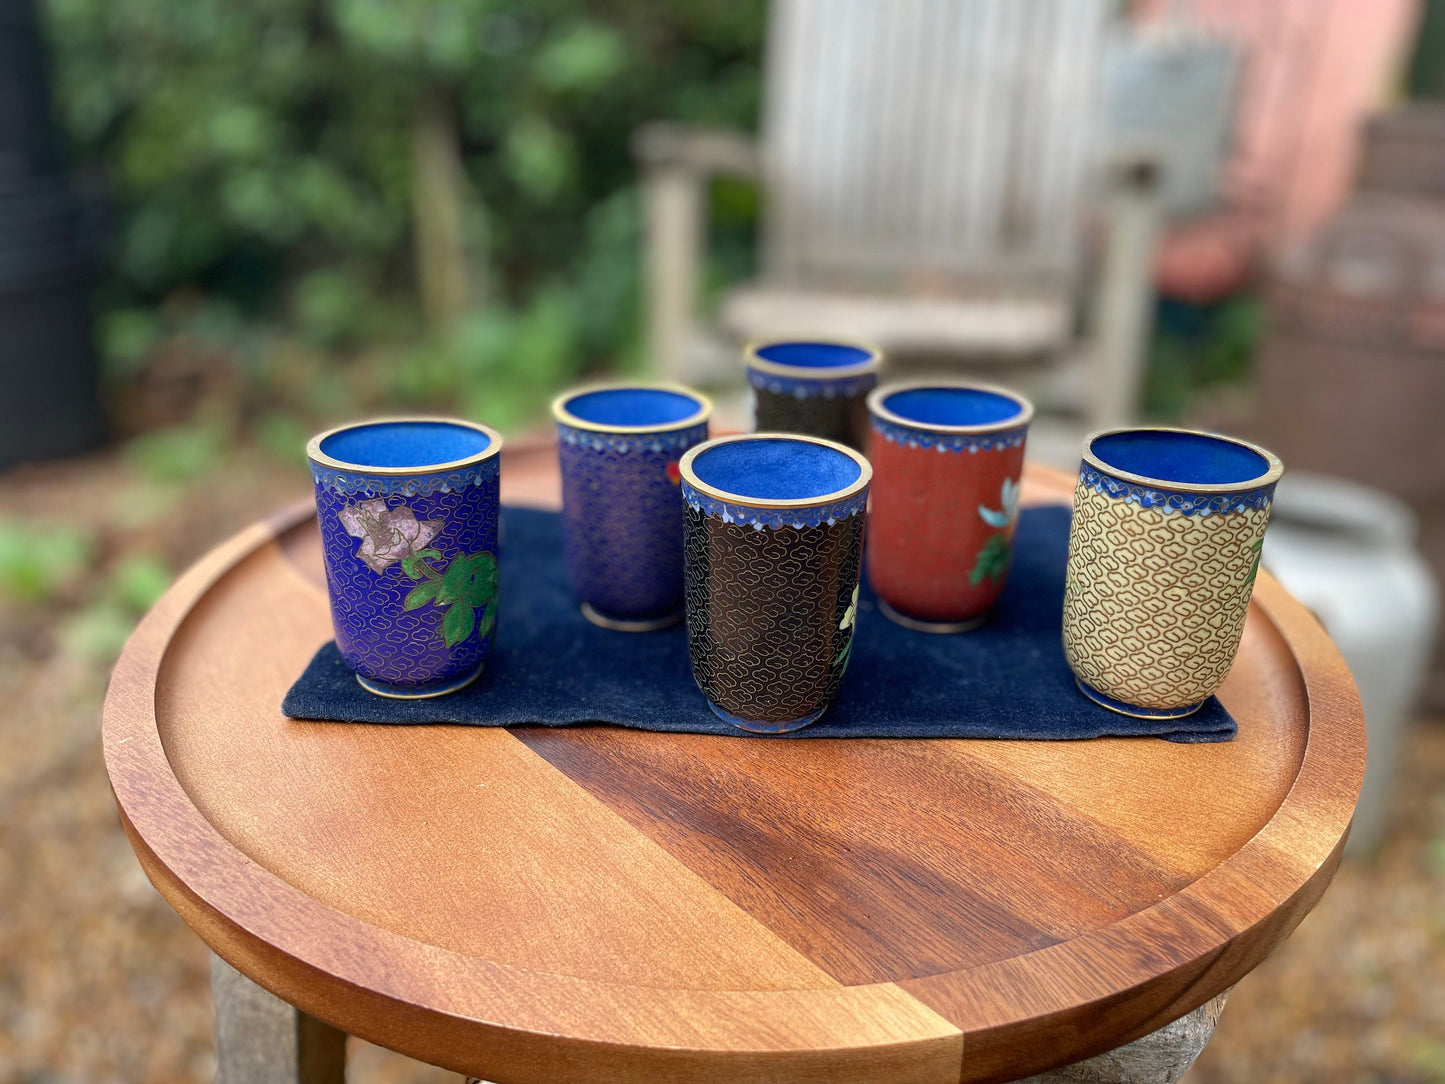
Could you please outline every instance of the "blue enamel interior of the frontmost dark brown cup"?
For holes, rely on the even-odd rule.
[[[759,500],[808,500],[847,489],[863,470],[851,455],[809,441],[766,436],[730,441],[692,461],[701,481]]]

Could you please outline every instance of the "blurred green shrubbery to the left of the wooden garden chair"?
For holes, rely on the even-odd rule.
[[[236,321],[208,334],[262,376],[276,341],[246,331],[257,324],[384,356],[396,371],[379,390],[419,402],[624,361],[639,322],[633,129],[750,127],[757,110],[763,0],[45,9],[74,155],[117,204],[100,335],[121,376],[215,312]],[[754,205],[721,202],[731,276]],[[428,223],[455,251],[428,246]],[[451,298],[447,276],[467,279],[473,317],[422,335],[418,280]]]

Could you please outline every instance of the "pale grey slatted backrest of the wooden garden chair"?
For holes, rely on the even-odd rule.
[[[775,0],[782,278],[1072,273],[1108,0]]]

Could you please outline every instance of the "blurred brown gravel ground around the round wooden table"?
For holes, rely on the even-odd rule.
[[[208,1081],[204,945],[155,893],[105,785],[98,707],[127,555],[179,571],[306,491],[228,452],[156,480],[118,455],[0,476],[0,528],[78,525],[84,567],[45,598],[0,597],[0,1083]],[[103,600],[97,603],[97,600]],[[108,623],[108,624],[107,624]],[[110,646],[108,646],[110,645]],[[1235,989],[1191,1084],[1445,1084],[1445,721],[1406,741],[1387,843]],[[357,1044],[351,1081],[452,1074]]]

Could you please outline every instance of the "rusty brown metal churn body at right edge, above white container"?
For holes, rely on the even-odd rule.
[[[1286,464],[1445,502],[1445,201],[1361,194],[1280,262],[1260,436]]]

